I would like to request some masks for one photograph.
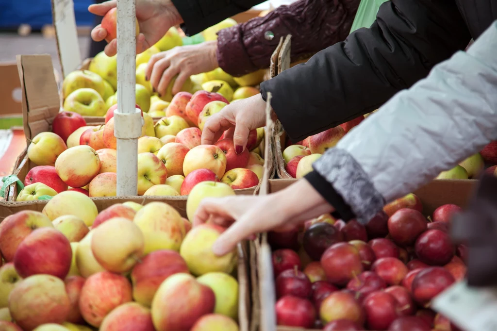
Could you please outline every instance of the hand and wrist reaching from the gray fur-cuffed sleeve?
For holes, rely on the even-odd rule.
[[[268,195],[206,198],[195,213],[193,226],[214,223],[229,227],[212,247],[215,254],[224,255],[253,235],[288,231],[332,211],[333,207],[302,179]]]

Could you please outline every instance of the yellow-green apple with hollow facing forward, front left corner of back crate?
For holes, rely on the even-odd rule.
[[[64,100],[64,110],[74,111],[83,116],[105,116],[105,101],[93,88],[80,88]]]

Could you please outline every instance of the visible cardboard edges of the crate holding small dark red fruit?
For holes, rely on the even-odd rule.
[[[269,194],[280,191],[297,179],[270,179],[262,183],[259,194]],[[413,193],[419,197],[423,204],[423,214],[432,215],[433,211],[447,203],[459,205],[463,208],[469,203],[470,197],[476,189],[477,180],[433,180],[418,188]],[[260,243],[254,246],[256,255],[256,281],[253,284],[254,292],[259,293],[260,331],[311,331],[311,329],[276,326],[274,305],[276,292],[271,261],[271,247],[267,242],[267,234],[261,235]],[[255,305],[255,304],[254,304]],[[312,329],[314,330],[314,329]]]

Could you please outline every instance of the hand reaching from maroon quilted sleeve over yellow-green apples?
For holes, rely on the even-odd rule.
[[[145,77],[150,78],[150,83],[161,95],[166,93],[172,78],[178,75],[172,87],[172,94],[176,94],[191,75],[206,73],[219,67],[216,51],[215,40],[174,47],[152,56],[147,64]]]

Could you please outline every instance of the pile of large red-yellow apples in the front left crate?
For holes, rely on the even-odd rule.
[[[188,218],[204,197],[233,194],[200,183]],[[223,231],[192,229],[163,202],[98,213],[71,191],[10,215],[0,223],[0,330],[238,331],[238,254],[212,252]]]

